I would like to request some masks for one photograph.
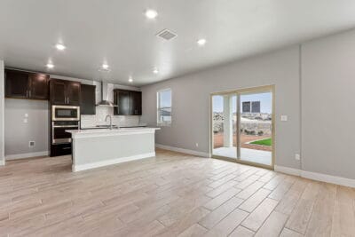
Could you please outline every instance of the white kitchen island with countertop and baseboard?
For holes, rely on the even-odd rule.
[[[159,128],[66,130],[72,134],[72,170],[90,170],[155,156]]]

